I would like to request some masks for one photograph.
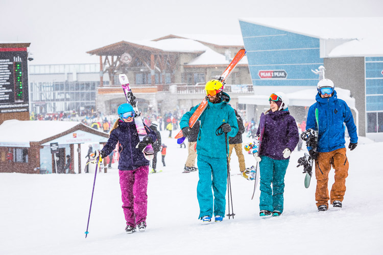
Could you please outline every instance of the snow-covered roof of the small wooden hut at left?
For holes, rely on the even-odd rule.
[[[10,147],[29,147],[30,142],[42,141],[78,124],[82,123],[78,121],[6,120],[0,125],[0,146],[4,144]]]

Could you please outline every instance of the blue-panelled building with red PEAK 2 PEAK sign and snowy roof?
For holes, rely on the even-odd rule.
[[[383,18],[240,19],[254,95],[240,96],[248,119],[282,91],[298,122],[323,75],[350,107],[358,135],[383,141]],[[253,113],[253,116],[251,116]]]

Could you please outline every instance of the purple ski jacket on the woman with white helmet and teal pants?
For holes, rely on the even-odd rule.
[[[259,156],[285,160],[282,151],[285,148],[293,151],[299,141],[298,126],[289,110],[270,111],[265,115],[265,123],[259,124],[260,126],[264,126],[265,131],[262,141],[260,141]],[[260,134],[259,127],[257,136]]]

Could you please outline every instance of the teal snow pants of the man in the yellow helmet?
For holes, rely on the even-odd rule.
[[[200,216],[220,215],[225,217],[227,164],[226,158],[210,158],[198,155],[199,181],[197,198],[200,205]],[[214,198],[213,198],[214,192]]]

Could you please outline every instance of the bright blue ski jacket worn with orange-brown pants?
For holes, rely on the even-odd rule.
[[[340,148],[345,148],[345,127],[347,126],[350,142],[356,143],[358,137],[356,126],[350,108],[342,99],[338,99],[337,91],[331,97],[322,98],[319,93],[316,98],[317,103],[310,106],[307,114],[307,129],[317,130],[315,119],[315,109],[318,109],[319,134],[317,151],[329,152]],[[307,147],[308,150],[312,149]]]

